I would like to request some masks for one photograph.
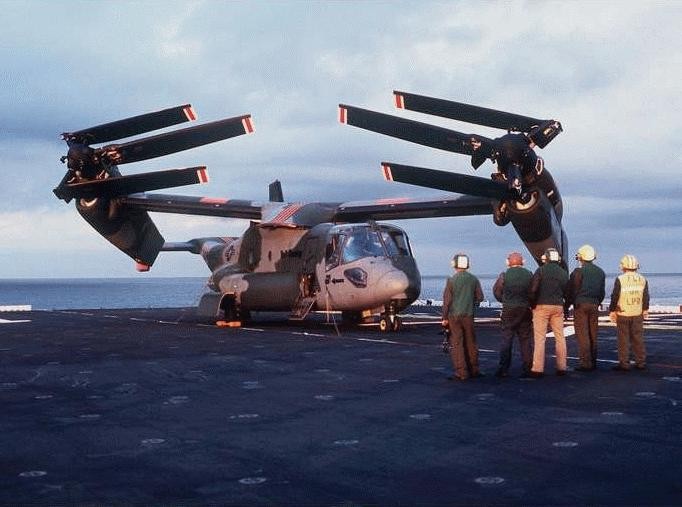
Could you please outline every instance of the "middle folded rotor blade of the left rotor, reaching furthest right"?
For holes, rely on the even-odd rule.
[[[196,127],[175,130],[165,134],[145,137],[123,144],[99,148],[99,152],[114,164],[129,164],[189,150],[204,144],[215,143],[230,137],[253,132],[251,115],[227,118]]]

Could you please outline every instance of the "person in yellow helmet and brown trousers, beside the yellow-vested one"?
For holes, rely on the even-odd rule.
[[[590,245],[581,246],[575,255],[580,267],[573,270],[568,282],[566,306],[573,305],[573,323],[580,357],[576,371],[592,371],[597,368],[599,305],[606,295],[606,275],[604,270],[594,264],[596,257],[596,252]]]

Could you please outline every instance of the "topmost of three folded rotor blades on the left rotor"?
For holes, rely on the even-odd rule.
[[[106,143],[115,139],[123,139],[193,120],[196,120],[194,109],[192,109],[190,104],[185,104],[111,123],[104,123],[76,132],[65,132],[62,134],[62,137],[67,141],[76,140],[84,144]]]

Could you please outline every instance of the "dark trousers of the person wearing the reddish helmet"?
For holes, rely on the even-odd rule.
[[[511,366],[514,337],[519,340],[519,352],[523,362],[523,371],[529,372],[533,364],[533,314],[527,307],[503,307],[500,316],[502,325],[502,341],[500,343],[499,369],[506,373]]]

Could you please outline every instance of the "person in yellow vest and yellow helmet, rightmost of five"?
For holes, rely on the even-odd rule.
[[[639,263],[634,255],[620,260],[623,274],[616,278],[611,293],[609,317],[618,330],[618,365],[616,371],[630,369],[630,346],[635,356],[635,368],[646,369],[644,319],[649,317],[649,284],[637,273]]]

